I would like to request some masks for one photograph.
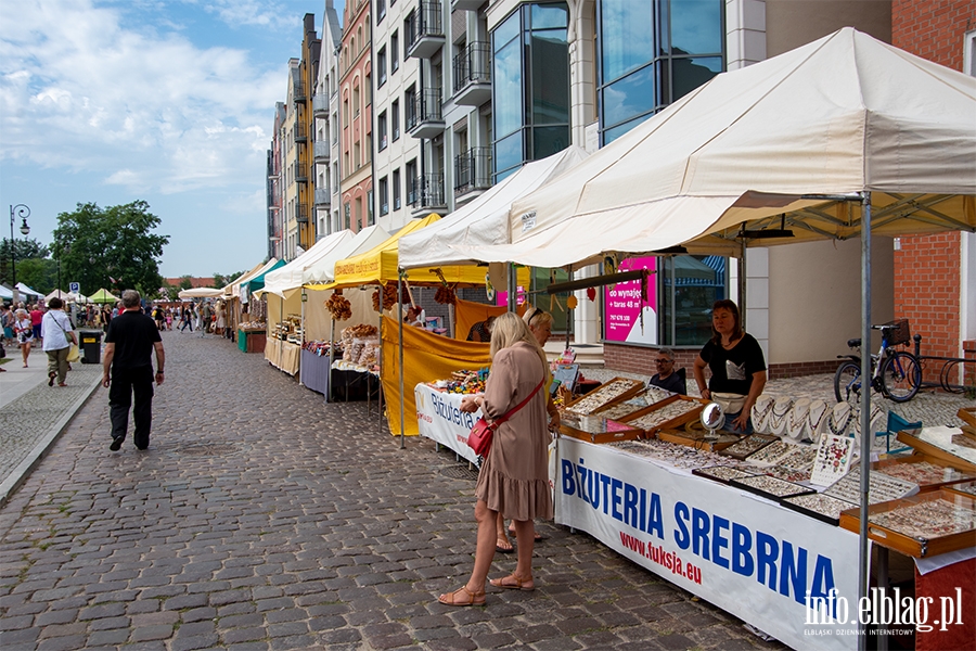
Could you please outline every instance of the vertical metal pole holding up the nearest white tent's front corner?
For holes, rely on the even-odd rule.
[[[871,192],[861,192],[861,526],[858,550],[858,603],[871,583],[871,548],[868,539],[868,490],[871,486]],[[882,360],[878,360],[881,363]],[[858,620],[858,649],[868,649],[864,624]]]

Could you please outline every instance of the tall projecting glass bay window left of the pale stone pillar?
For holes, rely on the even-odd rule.
[[[491,34],[493,181],[569,145],[569,10],[522,4]]]

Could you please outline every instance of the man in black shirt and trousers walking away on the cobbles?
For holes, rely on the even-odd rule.
[[[108,449],[113,452],[118,450],[126,439],[129,407],[132,406],[133,395],[136,447],[140,450],[149,447],[153,421],[154,349],[157,386],[163,384],[163,367],[166,363],[159,331],[156,330],[153,319],[142,314],[139,292],[136,290],[123,292],[123,310],[108,324],[108,332],[105,334],[105,359],[102,362],[104,369],[102,386],[108,388],[108,417],[112,420],[112,445]]]

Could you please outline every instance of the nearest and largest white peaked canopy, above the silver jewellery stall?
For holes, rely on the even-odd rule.
[[[976,230],[976,78],[845,27],[722,73],[524,200],[513,244],[485,261],[560,267],[604,253],[741,247],[749,230],[877,234]]]

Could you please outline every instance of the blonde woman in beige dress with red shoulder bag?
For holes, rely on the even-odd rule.
[[[515,572],[491,580],[497,588],[532,590],[532,519],[552,519],[552,493],[549,488],[549,442],[544,384],[548,379],[545,354],[517,315],[506,312],[491,329],[491,374],[485,395],[466,397],[462,411],[476,411],[497,420],[522,403],[536,387],[532,398],[495,432],[488,458],[481,464],[475,489],[475,519],[478,538],[475,565],[467,583],[441,595],[447,605],[484,605],[485,580],[495,558],[496,522],[499,513],[515,523],[518,544]]]

